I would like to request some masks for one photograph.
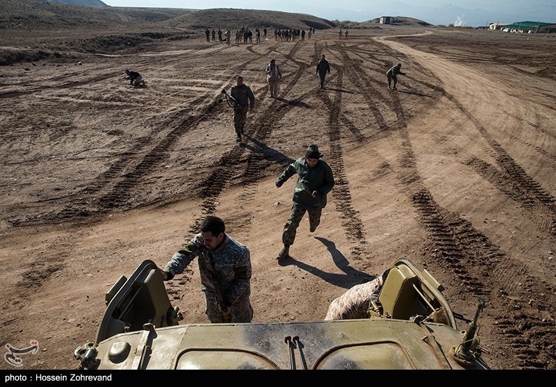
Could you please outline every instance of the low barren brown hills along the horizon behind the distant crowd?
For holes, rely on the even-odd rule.
[[[60,31],[84,28],[88,31],[130,30],[134,27],[179,28],[196,31],[204,28],[372,28],[379,19],[367,22],[327,20],[302,13],[271,10],[213,8],[125,8],[106,6],[100,0],[2,0],[0,29],[23,31]],[[410,17],[394,17],[393,24],[427,26]]]

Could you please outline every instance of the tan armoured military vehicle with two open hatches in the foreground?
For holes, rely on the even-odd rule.
[[[489,369],[477,336],[484,302],[458,331],[442,290],[402,258],[387,271],[368,318],[180,324],[156,264],[144,261],[106,293],[97,337],[74,357],[82,370]]]

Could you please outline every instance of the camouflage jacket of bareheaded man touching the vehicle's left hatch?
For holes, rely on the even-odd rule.
[[[208,251],[199,233],[167,263],[164,269],[169,274],[167,279],[183,273],[195,257],[198,257],[201,289],[206,297],[216,297],[216,281],[228,306],[250,297],[251,256],[245,245],[226,234],[218,249]]]

